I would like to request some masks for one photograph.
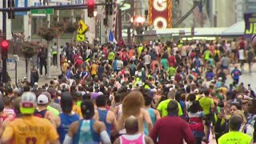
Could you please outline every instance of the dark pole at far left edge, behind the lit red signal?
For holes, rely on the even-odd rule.
[[[2,0],[2,8],[6,8],[6,0]],[[2,12],[2,40],[6,40],[6,12]],[[7,82],[7,66],[6,60],[8,58],[8,49],[6,54],[2,51],[2,82]]]

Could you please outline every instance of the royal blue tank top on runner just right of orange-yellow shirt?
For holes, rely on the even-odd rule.
[[[65,136],[69,130],[70,124],[72,122],[78,121],[79,120],[79,116],[78,114],[59,114],[60,120],[61,120],[61,124],[60,126],[58,126],[58,135],[59,135],[59,141],[60,143],[63,143]]]

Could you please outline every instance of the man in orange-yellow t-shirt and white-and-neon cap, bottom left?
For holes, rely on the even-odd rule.
[[[47,119],[33,115],[36,105],[37,98],[34,93],[22,94],[20,109],[23,116],[14,119],[6,126],[1,138],[2,143],[8,143],[12,138],[14,138],[14,143],[59,143],[58,133],[54,126]]]

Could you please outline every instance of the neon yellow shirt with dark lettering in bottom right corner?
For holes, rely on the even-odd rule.
[[[252,138],[239,131],[230,131],[218,138],[218,144],[250,144]]]

